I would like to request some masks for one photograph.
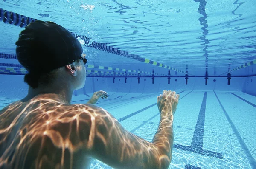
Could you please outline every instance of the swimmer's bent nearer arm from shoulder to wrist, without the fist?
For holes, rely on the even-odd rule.
[[[149,142],[125,130],[106,110],[95,108],[95,129],[90,132],[90,156],[116,169],[167,169],[172,158],[172,120],[161,117]],[[92,121],[93,124],[93,121]],[[92,130],[91,130],[92,131]]]

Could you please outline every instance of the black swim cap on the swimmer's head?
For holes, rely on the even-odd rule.
[[[21,31],[17,59],[28,72],[47,73],[79,59],[83,49],[76,37],[53,22],[35,21]]]

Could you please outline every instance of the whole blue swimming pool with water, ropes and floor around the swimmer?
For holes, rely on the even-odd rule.
[[[171,168],[256,168],[256,12],[253,0],[3,0],[0,109],[26,96],[15,41],[33,20],[72,31],[87,54],[87,82],[73,93],[151,141],[157,96],[180,93]],[[15,19],[15,18],[16,19]],[[91,169],[109,169],[93,160]]]

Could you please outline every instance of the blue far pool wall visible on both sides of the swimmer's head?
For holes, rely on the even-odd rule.
[[[23,82],[23,77],[21,75],[0,75],[0,96],[17,99],[26,96],[28,86]],[[213,82],[213,79],[216,79],[216,82]],[[137,78],[128,78],[127,83],[125,83],[125,78],[115,78],[115,83],[113,83],[113,78],[87,77],[84,88],[76,90],[74,95],[89,94],[98,90],[125,93],[156,93],[163,90],[224,90],[243,91],[256,95],[255,86],[256,77],[232,78],[230,85],[227,85],[226,78],[209,78],[208,85],[205,85],[204,78],[189,78],[186,85],[184,78],[171,78],[170,84],[167,78],[155,78],[154,84],[151,78],[141,78],[138,84]]]

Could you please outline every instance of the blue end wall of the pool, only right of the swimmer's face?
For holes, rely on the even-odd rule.
[[[98,79],[98,81],[96,80]],[[184,78],[171,78],[168,84],[167,78],[155,78],[152,84],[151,78],[140,78],[140,84],[137,78],[128,78],[125,84],[124,78],[116,78],[113,83],[113,78],[87,78],[85,85],[86,93],[93,93],[98,90],[106,90],[111,92],[128,92],[128,93],[156,93],[163,90],[224,90],[224,91],[242,91],[244,86],[243,77],[234,77],[227,85],[226,78],[209,78],[208,85],[205,85],[204,78],[189,78],[188,84],[185,84]],[[119,81],[120,79],[120,81]],[[177,79],[177,81],[175,81]],[[216,79],[214,82],[213,80]],[[93,90],[94,81],[94,90]]]

